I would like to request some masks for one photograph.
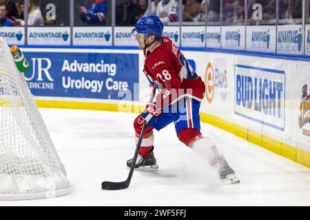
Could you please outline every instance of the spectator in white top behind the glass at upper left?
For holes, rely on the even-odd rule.
[[[28,25],[30,26],[42,26],[43,17],[40,9],[41,1],[40,0],[29,0],[28,1]],[[25,21],[22,19],[16,19],[15,23],[18,25],[25,25]]]

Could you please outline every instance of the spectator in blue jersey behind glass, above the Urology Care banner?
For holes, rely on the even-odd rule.
[[[105,0],[89,0],[86,7],[79,7],[81,20],[87,25],[105,25],[107,2]]]

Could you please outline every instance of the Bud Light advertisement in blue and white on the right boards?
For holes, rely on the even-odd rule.
[[[285,72],[236,65],[235,114],[284,131]]]

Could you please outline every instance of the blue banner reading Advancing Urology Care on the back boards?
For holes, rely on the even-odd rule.
[[[138,101],[138,54],[24,54],[31,65],[24,76],[34,96]]]

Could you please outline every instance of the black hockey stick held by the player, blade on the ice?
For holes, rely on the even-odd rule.
[[[149,103],[153,102],[154,96],[155,96],[156,87],[154,86],[152,89],[151,97],[149,98]],[[130,181],[132,180],[132,174],[134,173],[134,166],[136,165],[136,158],[138,157],[139,149],[141,146],[141,142],[143,139],[143,133],[145,131],[146,123],[143,123],[141,133],[138,139],[138,143],[136,144],[136,152],[134,153],[134,158],[132,159],[132,166],[130,167],[130,173],[125,181],[103,181],[101,183],[101,188],[103,190],[123,190],[125,188],[128,188],[130,185]]]

